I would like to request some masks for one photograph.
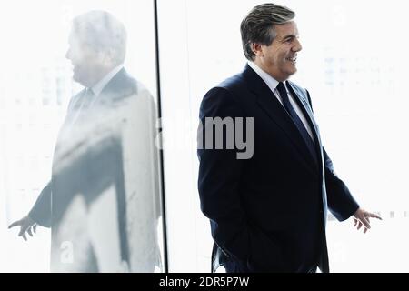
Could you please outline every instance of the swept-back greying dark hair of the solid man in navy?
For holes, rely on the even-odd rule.
[[[293,10],[273,3],[255,6],[240,25],[244,55],[254,61],[252,44],[271,45],[276,36],[274,25],[283,25],[295,17]]]

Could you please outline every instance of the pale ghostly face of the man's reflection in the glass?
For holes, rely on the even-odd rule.
[[[65,57],[74,66],[74,81],[86,87],[92,87],[105,74],[104,57],[82,42],[74,32],[70,34],[68,45]]]

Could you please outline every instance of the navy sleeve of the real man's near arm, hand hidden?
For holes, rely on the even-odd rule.
[[[210,117],[232,117],[234,123],[234,117],[244,117],[244,111],[233,95],[220,87],[205,95],[200,108],[198,189],[201,209],[210,219],[214,242],[225,256],[233,256],[251,271],[283,270],[279,249],[245,215],[240,195],[245,160],[237,158],[239,150],[235,146],[233,149],[226,146],[215,149],[214,138],[206,145],[210,126],[214,128]],[[224,131],[224,141],[226,135]]]

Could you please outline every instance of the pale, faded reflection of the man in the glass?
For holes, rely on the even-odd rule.
[[[73,21],[66,58],[85,86],[68,106],[52,179],[10,227],[52,227],[56,271],[152,272],[160,266],[155,103],[124,68],[125,26],[103,11]]]

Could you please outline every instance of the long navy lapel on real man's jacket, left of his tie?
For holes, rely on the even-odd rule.
[[[283,105],[278,101],[277,97],[271,92],[270,88],[264,83],[263,79],[257,75],[254,70],[246,65],[244,72],[244,79],[247,80],[248,86],[257,98],[257,104],[264,110],[272,121],[282,128],[284,134],[292,142],[294,147],[304,157],[305,164],[317,172],[318,168],[311,156],[308,148],[305,146],[303,137],[294,125],[291,116],[285,111]]]

